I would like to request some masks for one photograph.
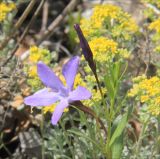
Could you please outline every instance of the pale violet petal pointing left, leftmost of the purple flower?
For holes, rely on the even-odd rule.
[[[42,89],[24,99],[24,103],[30,106],[48,106],[59,100],[59,96],[48,89]]]

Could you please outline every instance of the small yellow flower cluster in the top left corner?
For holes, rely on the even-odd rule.
[[[6,18],[7,14],[15,8],[16,5],[14,3],[7,4],[4,2],[0,2],[0,22],[2,22]]]

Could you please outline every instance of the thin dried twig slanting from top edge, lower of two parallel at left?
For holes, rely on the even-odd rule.
[[[15,48],[12,50],[9,58],[8,58],[6,61],[4,61],[4,63],[3,63],[1,66],[5,66],[5,65],[13,58],[13,56],[14,56],[16,50],[18,49],[20,43],[21,43],[21,42],[23,41],[23,39],[25,38],[25,36],[26,36],[29,28],[30,28],[31,25],[33,24],[33,22],[34,22],[34,20],[36,19],[37,15],[39,14],[39,12],[40,12],[40,10],[41,10],[44,2],[45,2],[45,0],[41,0],[41,3],[39,4],[37,10],[35,11],[32,19],[30,20],[30,22],[29,22],[29,24],[28,24],[28,26],[25,28],[25,30],[24,30],[22,36],[20,37],[19,41],[18,41],[17,44],[15,45]]]

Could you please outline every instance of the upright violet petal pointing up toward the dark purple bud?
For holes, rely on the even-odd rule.
[[[79,65],[79,57],[75,56],[71,58],[64,66],[62,69],[62,74],[66,79],[67,86],[69,90],[72,90],[73,84],[74,84],[74,79],[77,74],[78,70],[78,65]]]

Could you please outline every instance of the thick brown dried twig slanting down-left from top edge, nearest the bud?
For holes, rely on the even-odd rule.
[[[47,30],[44,31],[40,37],[37,37],[37,45],[39,45],[43,40],[49,38],[53,34],[54,29],[62,22],[64,17],[75,8],[77,3],[78,0],[71,0],[71,2],[66,6],[62,13],[58,15],[58,17],[48,26]]]

